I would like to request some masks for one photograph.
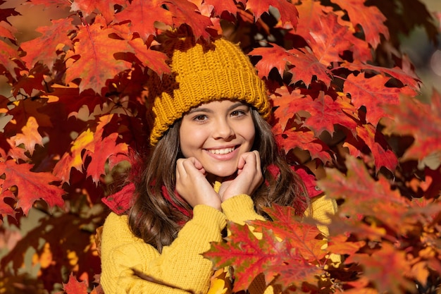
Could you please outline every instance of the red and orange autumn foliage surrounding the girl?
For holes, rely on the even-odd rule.
[[[19,13],[6,4],[0,212],[18,227],[32,209],[44,217],[14,240],[1,228],[15,244],[0,262],[2,290],[99,293],[101,199],[131,150],[147,152],[146,82],[169,71],[164,52],[180,37],[224,35],[240,42],[267,82],[287,158],[316,172],[340,210],[328,247],[312,220],[273,207],[273,222],[251,223],[263,241],[230,223],[231,235],[206,257],[235,269],[234,290],[263,273],[293,292],[434,293],[441,97],[418,101],[421,81],[399,53],[399,36],[414,27],[436,39],[420,1],[27,0],[23,6],[58,13],[38,37],[21,41],[11,24]]]

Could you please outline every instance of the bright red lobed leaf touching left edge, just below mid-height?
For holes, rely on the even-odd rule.
[[[51,173],[34,173],[30,171],[32,164],[16,164],[13,160],[0,162],[0,175],[6,178],[2,190],[17,186],[17,205],[15,209],[22,209],[27,215],[35,201],[44,200],[50,207],[63,207],[64,190],[50,183],[59,179]]]

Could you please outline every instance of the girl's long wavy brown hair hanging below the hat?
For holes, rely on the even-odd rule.
[[[302,180],[279,152],[271,126],[253,108],[251,116],[256,128],[252,149],[259,151],[264,179],[256,192],[250,195],[256,212],[264,216],[263,207],[271,207],[275,203],[292,206],[297,214],[303,214],[309,207],[309,197]],[[163,246],[175,240],[183,223],[191,218],[182,213],[182,209],[190,212],[192,207],[175,195],[176,161],[182,158],[179,151],[179,128],[180,120],[168,129],[145,161],[142,175],[135,181],[135,202],[128,212],[132,233],[156,247],[159,252],[162,252]],[[274,176],[268,166],[277,167],[278,175]],[[163,196],[164,188],[171,200],[182,209],[176,209],[166,200]]]

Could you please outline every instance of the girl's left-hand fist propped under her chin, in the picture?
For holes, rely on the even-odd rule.
[[[221,210],[221,197],[213,190],[205,177],[202,164],[190,157],[176,161],[176,191],[192,207],[206,204]]]

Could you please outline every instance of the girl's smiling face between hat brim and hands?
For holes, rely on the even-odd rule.
[[[201,104],[182,117],[180,150],[185,158],[195,157],[207,176],[228,177],[254,142],[253,118],[247,104],[221,100]]]

